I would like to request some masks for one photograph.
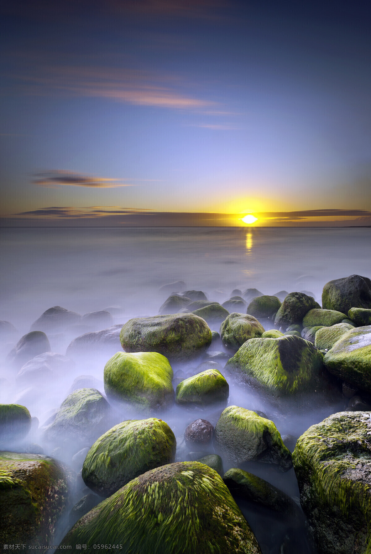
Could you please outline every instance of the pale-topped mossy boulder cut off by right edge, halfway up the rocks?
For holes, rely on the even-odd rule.
[[[354,327],[323,358],[334,376],[371,393],[371,325]]]

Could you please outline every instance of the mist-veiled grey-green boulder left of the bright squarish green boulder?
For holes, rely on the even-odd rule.
[[[80,442],[95,440],[107,425],[109,404],[95,388],[80,388],[61,403],[55,419],[44,430],[45,439]]]

